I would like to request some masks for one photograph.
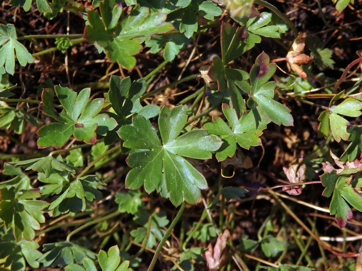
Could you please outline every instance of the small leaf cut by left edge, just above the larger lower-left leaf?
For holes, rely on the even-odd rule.
[[[14,187],[16,191],[20,191],[22,189],[32,189],[33,186],[30,184],[30,178],[28,175],[24,174],[20,168],[15,168],[12,164],[4,163],[4,170],[2,172],[4,175],[16,175],[14,178],[0,182],[0,188],[8,188]]]

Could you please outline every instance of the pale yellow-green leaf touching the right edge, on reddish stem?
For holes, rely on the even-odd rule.
[[[349,122],[340,115],[349,117],[361,116],[362,102],[354,98],[347,98],[337,106],[330,106],[328,110],[323,111],[318,120],[318,136],[327,138],[329,132],[332,132],[334,139],[340,142],[341,139],[348,140],[349,134],[346,131]]]

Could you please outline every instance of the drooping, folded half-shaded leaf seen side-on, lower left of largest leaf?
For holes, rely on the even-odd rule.
[[[84,211],[86,199],[92,202],[93,199],[102,198],[102,193],[98,190],[100,188],[103,188],[102,183],[96,175],[81,177],[73,181],[63,194],[49,205],[48,210],[59,206],[57,211],[61,213],[68,210],[71,212]]]

